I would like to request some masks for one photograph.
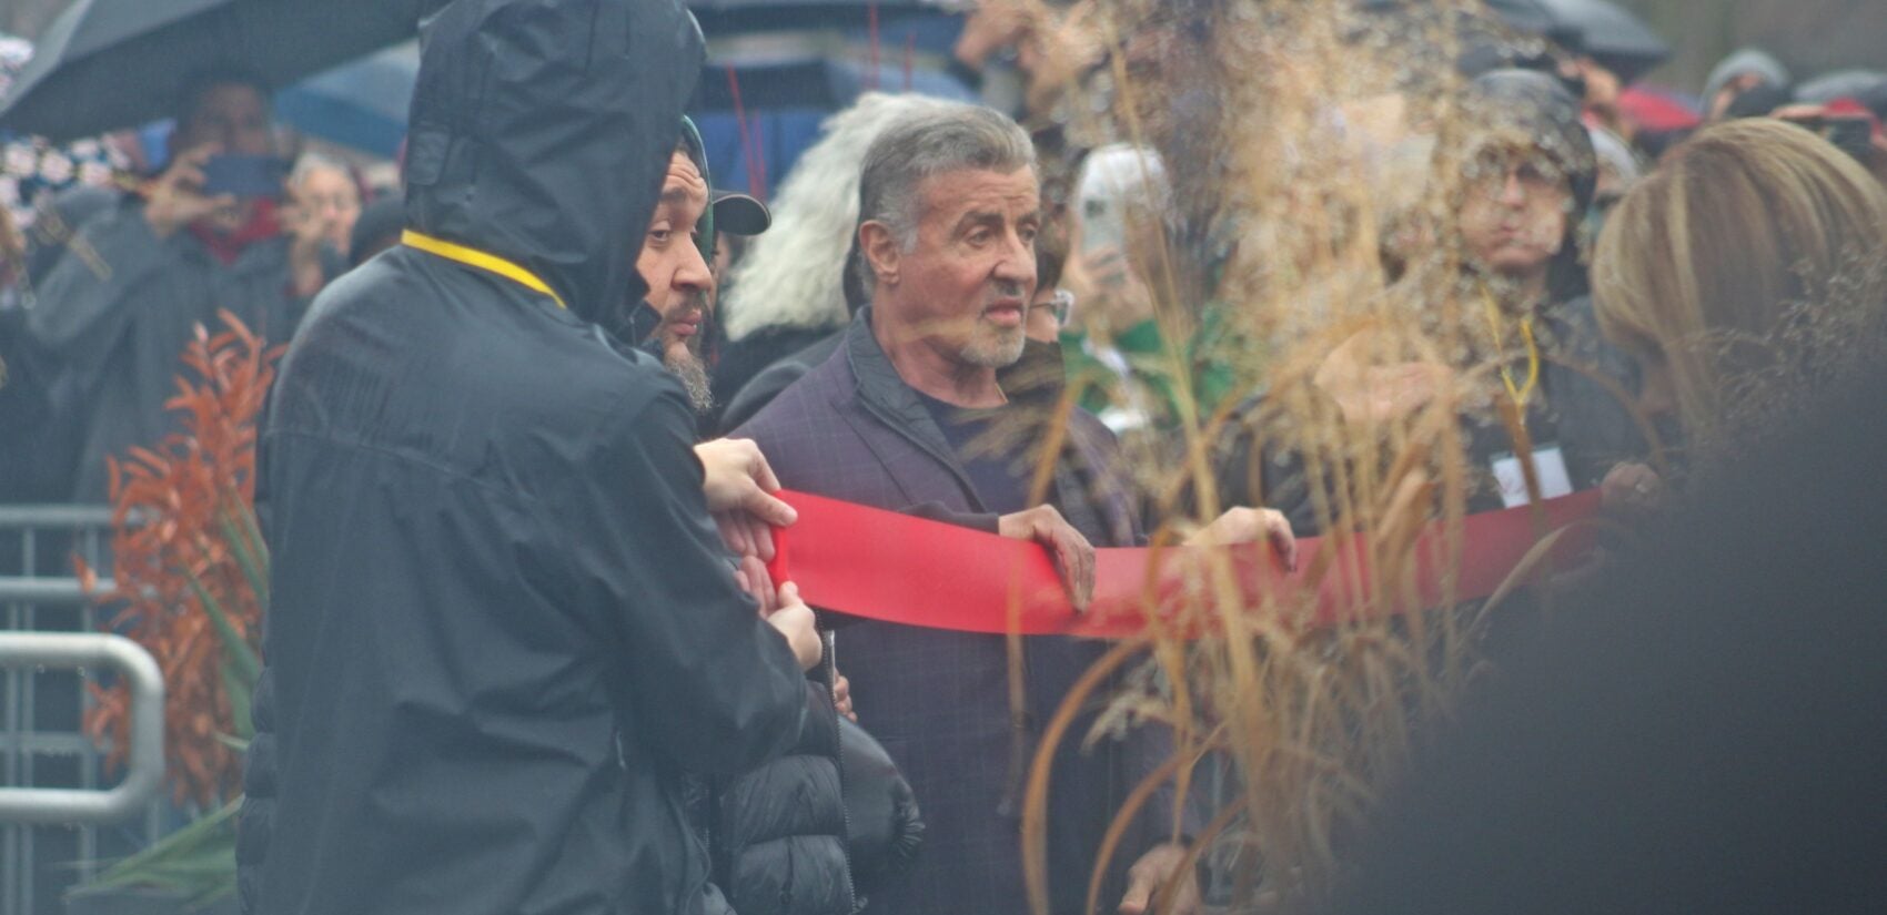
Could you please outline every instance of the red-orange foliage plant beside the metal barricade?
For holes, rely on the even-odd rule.
[[[98,594],[119,607],[109,628],[149,649],[164,672],[166,775],[179,802],[202,806],[221,804],[242,785],[242,760],[221,736],[247,732],[249,723],[238,717],[247,717],[253,683],[228,683],[234,666],[204,594],[255,651],[268,583],[255,579],[255,562],[243,570],[238,553],[266,555],[251,507],[255,441],[283,349],[268,349],[228,311],[221,319],[228,330],[215,336],[196,326],[177,396],[164,404],[183,413],[183,432],[109,462],[115,587]],[[79,575],[96,583],[83,562]],[[92,696],[85,728],[109,743],[108,762],[117,766],[130,726],[128,694],[123,685],[92,685]]]

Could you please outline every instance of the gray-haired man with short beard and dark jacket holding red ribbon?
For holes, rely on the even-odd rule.
[[[870,306],[827,362],[736,436],[760,445],[785,487],[1040,541],[1085,604],[1091,543],[1132,545],[1142,528],[1111,436],[1083,411],[1057,428],[1059,351],[1023,334],[1042,223],[1028,136],[974,106],[900,121],[866,153],[859,200],[851,268]],[[1038,466],[1049,470],[1045,492],[1032,485]],[[1262,509],[1232,509],[1196,538],[1270,538],[1293,551],[1289,526]],[[857,713],[906,772],[928,823],[911,879],[874,898],[874,909],[1028,911],[1021,777],[1042,726],[1104,645],[1025,638],[1023,700],[1011,707],[1004,636],[857,621],[840,641]],[[1083,732],[1077,721],[1072,734]],[[1085,753],[1074,743],[1057,747],[1051,775],[1055,913],[1085,911],[1100,838],[1162,757],[1149,732]],[[1138,862],[1115,868],[1125,879],[1110,873],[1121,911],[1147,911],[1185,857],[1172,798],[1151,809],[1123,845],[1125,862]],[[1196,906],[1191,881],[1181,883],[1177,911]]]

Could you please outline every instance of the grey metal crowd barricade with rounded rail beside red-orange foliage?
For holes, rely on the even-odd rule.
[[[109,530],[104,506],[0,506],[0,915],[60,913],[102,857],[160,836],[162,679],[143,649],[100,634],[72,566],[108,575]],[[142,715],[128,749],[143,762],[123,781],[79,732],[102,668],[126,677]]]

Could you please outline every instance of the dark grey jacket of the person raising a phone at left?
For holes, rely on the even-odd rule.
[[[308,300],[291,294],[287,238],[255,241],[225,264],[189,228],[157,238],[143,202],[128,194],[66,247],[34,277],[26,326],[68,389],[68,415],[53,423],[81,426],[51,432],[81,441],[75,481],[60,498],[104,502],[108,457],[179,428],[164,402],[177,392],[174,377],[196,324],[215,334],[219,311],[230,311],[270,343],[285,343]]]

